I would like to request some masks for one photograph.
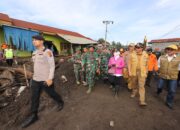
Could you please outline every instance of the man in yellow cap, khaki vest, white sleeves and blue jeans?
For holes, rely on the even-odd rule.
[[[166,48],[167,54],[158,59],[159,67],[159,84],[157,94],[159,95],[167,83],[168,94],[166,97],[166,105],[173,109],[173,100],[177,88],[178,70],[180,70],[180,56],[176,55],[176,45],[170,45]]]

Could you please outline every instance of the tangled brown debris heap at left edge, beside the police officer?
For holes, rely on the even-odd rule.
[[[24,90],[22,89],[23,86],[26,86],[24,72],[30,79],[32,72],[23,70],[21,66],[17,68],[0,67],[0,108],[7,106]]]

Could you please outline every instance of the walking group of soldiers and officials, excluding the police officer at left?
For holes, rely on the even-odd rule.
[[[158,75],[157,95],[167,82],[168,95],[166,105],[173,108],[173,99],[176,92],[178,73],[180,70],[180,57],[176,45],[165,48],[165,55],[153,54],[152,48],[145,49],[143,43],[136,45],[130,43],[128,50],[108,50],[106,47],[85,47],[81,53],[80,48],[72,56],[76,83],[88,86],[87,93],[91,93],[95,81],[108,80],[113,94],[119,93],[119,88],[125,83],[131,91],[131,98],[139,94],[139,105],[146,106],[145,86],[151,86],[153,75]]]

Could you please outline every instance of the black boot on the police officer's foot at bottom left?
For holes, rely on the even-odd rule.
[[[38,120],[37,114],[30,115],[22,124],[22,128],[26,128]]]

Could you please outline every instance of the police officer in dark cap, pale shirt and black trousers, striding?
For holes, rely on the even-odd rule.
[[[33,45],[36,51],[33,53],[34,74],[31,85],[31,115],[22,123],[27,127],[38,120],[38,107],[40,93],[44,90],[57,103],[57,111],[63,109],[64,102],[61,96],[56,93],[53,86],[55,63],[51,50],[43,45],[44,38],[40,35],[33,36]]]

